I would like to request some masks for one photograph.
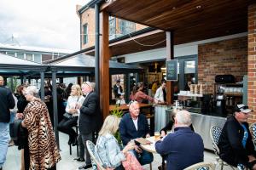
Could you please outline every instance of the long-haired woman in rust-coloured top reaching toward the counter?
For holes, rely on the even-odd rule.
[[[158,100],[148,96],[143,93],[144,83],[138,82],[136,86],[133,87],[130,99],[136,100],[138,103],[144,103],[145,100],[149,100],[152,103],[158,103]]]

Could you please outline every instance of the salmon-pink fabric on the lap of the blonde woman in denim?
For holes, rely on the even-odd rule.
[[[125,154],[126,160],[122,161],[123,167],[125,170],[143,170],[143,166],[137,161],[137,158],[131,153],[127,152]]]

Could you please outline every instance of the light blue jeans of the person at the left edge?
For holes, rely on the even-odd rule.
[[[9,123],[0,122],[0,167],[6,160],[9,143]]]

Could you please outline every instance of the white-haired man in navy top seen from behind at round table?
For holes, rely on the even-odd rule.
[[[167,169],[182,170],[204,160],[201,136],[191,130],[189,111],[178,111],[174,118],[174,133],[155,143],[155,150],[166,155]]]

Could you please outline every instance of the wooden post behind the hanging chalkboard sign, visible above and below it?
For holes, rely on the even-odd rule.
[[[166,31],[166,60],[174,59],[174,44],[172,31]],[[166,99],[168,104],[173,104],[173,82],[166,82]]]

